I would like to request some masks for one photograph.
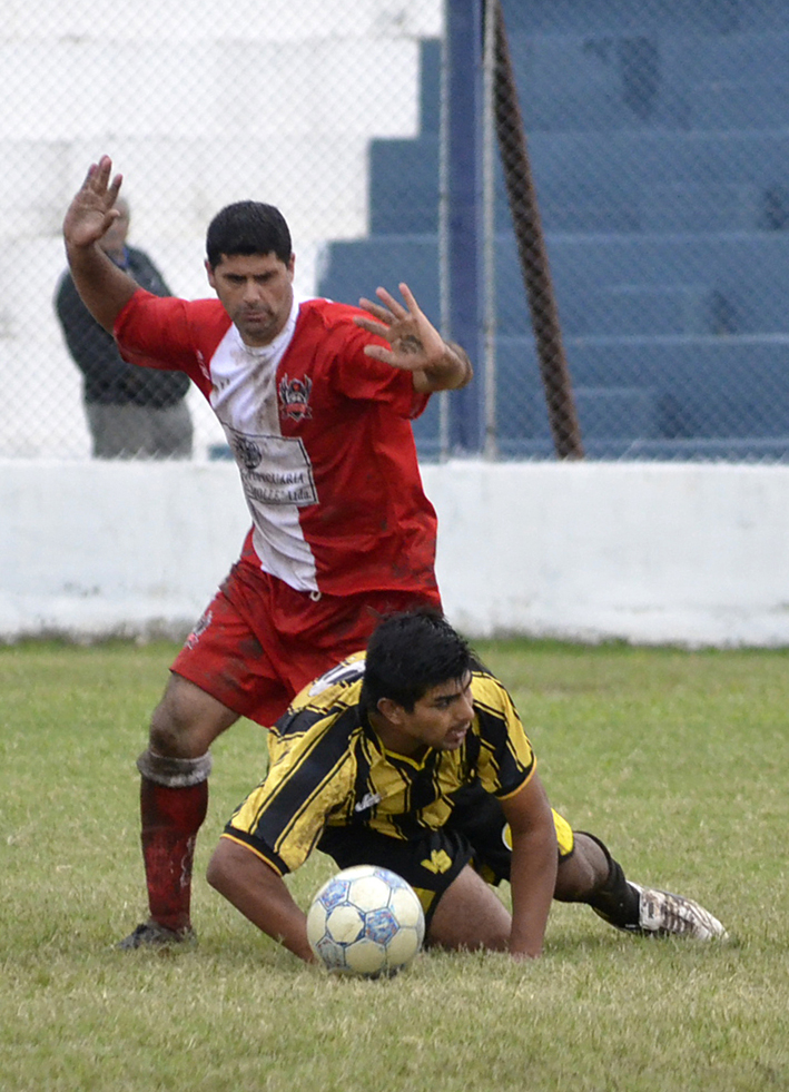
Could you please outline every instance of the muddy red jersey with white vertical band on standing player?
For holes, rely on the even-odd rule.
[[[410,419],[411,373],[365,356],[354,307],[309,299],[262,348],[217,299],[139,291],[118,316],[121,355],[186,372],[236,458],[253,518],[244,557],[299,591],[435,591],[436,519]]]

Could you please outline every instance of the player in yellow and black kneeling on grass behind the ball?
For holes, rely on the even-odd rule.
[[[724,935],[698,903],[625,879],[598,837],[551,809],[510,695],[438,614],[384,620],[366,657],[296,697],[269,751],[208,881],[307,962],[306,915],[283,876],[315,847],[341,868],[403,876],[422,901],[426,943],[445,948],[539,956],[552,898],[586,903],[630,933]],[[512,915],[490,886],[502,879]]]

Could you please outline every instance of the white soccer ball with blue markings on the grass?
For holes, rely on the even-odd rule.
[[[396,974],[422,947],[425,915],[414,888],[376,865],[327,881],[307,914],[307,937],[329,971],[365,978]]]

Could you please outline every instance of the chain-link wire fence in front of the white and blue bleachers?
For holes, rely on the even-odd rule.
[[[288,219],[302,295],[407,281],[442,321],[444,0],[0,10],[0,456],[89,458],[91,401],[179,402],[137,373],[91,387],[58,321],[60,224],[102,153],[125,175],[128,243],[178,295],[209,294],[207,224],[252,197]],[[789,6],[503,0],[494,16],[479,450],[789,460]],[[424,458],[447,453],[434,402]],[[183,405],[191,458],[220,456],[201,395]]]

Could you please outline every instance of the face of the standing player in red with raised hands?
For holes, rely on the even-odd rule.
[[[223,254],[206,270],[245,345],[268,345],[282,333],[293,306],[293,256],[285,264],[276,254]]]

